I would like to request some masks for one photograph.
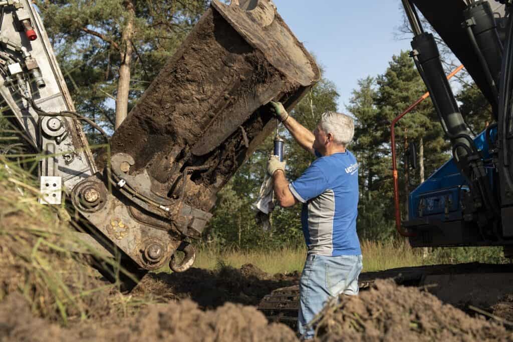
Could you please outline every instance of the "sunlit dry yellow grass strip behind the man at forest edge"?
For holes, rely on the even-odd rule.
[[[396,267],[423,265],[420,250],[413,250],[406,241],[362,242],[363,271],[379,271]],[[240,268],[253,264],[267,273],[301,271],[306,257],[305,247],[284,247],[272,251],[222,250],[218,246],[203,246],[198,252],[194,267],[215,269],[224,265]]]

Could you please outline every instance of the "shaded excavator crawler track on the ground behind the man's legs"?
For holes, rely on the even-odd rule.
[[[511,274],[513,274],[513,265],[511,264],[490,265],[471,263],[404,267],[362,273],[359,277],[359,286],[360,291],[365,291],[372,286],[376,279],[393,278],[398,285],[425,286],[441,300],[465,309],[469,302],[465,301],[463,303],[461,302],[461,296],[452,294],[453,290],[458,288],[456,292],[463,293],[463,295],[468,294],[468,296],[471,294],[473,300],[479,301],[481,305],[487,301],[489,307],[491,307],[497,303],[492,303],[493,300],[490,300],[490,298],[500,297],[498,295],[500,293],[503,295],[513,293],[513,286],[509,284]],[[463,285],[467,286],[462,288]],[[479,290],[482,288],[486,288],[489,291],[490,295],[488,298],[476,297],[476,293],[479,293]],[[499,300],[499,298],[496,299]],[[513,306],[513,303],[511,306]],[[262,298],[258,309],[264,313],[269,321],[280,322],[295,328],[299,312],[299,285],[272,291]]]

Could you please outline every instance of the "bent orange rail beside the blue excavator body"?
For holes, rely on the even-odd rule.
[[[447,79],[450,79],[452,76],[456,75],[460,70],[463,69],[463,64],[460,65],[458,68],[453,70],[449,75],[447,75]],[[408,233],[402,230],[401,228],[401,208],[399,205],[399,175],[397,172],[397,165],[396,165],[396,132],[394,130],[397,122],[407,113],[409,113],[413,108],[417,107],[423,100],[429,97],[429,92],[422,95],[416,102],[411,104],[404,112],[396,116],[392,120],[392,124],[390,126],[390,140],[392,144],[392,177],[393,177],[393,204],[395,207],[395,214],[396,214],[396,229],[399,234],[402,236],[410,237],[417,235],[416,233]]]

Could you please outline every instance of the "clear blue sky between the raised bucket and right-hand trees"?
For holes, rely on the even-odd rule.
[[[384,73],[393,54],[410,49],[410,39],[398,41],[393,35],[402,23],[400,0],[273,2],[337,86],[340,111],[358,79]]]

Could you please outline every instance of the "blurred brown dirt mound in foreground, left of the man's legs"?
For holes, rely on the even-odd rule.
[[[25,303],[25,304],[24,304]],[[12,312],[16,315],[12,315]],[[113,329],[115,327],[115,329]],[[0,341],[296,341],[290,328],[268,324],[253,307],[236,304],[202,311],[191,300],[149,306],[139,314],[101,326],[91,323],[64,329],[31,315],[20,295],[0,304]]]

